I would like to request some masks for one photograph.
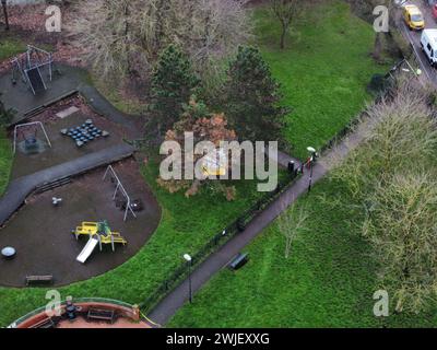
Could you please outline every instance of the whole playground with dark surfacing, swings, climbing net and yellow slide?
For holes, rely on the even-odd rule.
[[[161,220],[125,142],[140,128],[82,73],[27,46],[0,78],[2,101],[14,110],[11,180],[0,198],[0,285],[102,275],[135,255]]]

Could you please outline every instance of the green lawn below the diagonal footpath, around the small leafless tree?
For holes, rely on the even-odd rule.
[[[320,196],[347,201],[342,184],[326,179],[302,198],[311,215],[285,259],[285,238],[271,224],[244,252],[249,262],[223,269],[186,304],[168,327],[434,327],[436,308],[425,313],[373,315],[377,264],[359,230],[362,214],[333,210]]]

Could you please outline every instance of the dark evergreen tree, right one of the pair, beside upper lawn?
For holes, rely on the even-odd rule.
[[[226,115],[240,138],[283,141],[287,108],[280,106],[280,84],[255,47],[239,47],[226,83]]]

